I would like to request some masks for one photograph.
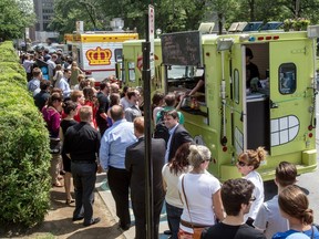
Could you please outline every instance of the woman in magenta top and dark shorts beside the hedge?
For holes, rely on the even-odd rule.
[[[61,162],[60,156],[61,143],[59,138],[59,132],[60,132],[61,112],[62,112],[62,96],[59,93],[53,93],[48,100],[47,107],[42,108],[42,116],[44,122],[47,123],[47,128],[49,131],[50,153],[52,154],[50,175],[51,175],[51,183],[55,187],[63,187],[63,185],[59,181],[60,162]]]

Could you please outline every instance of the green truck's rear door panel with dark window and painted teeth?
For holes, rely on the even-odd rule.
[[[305,149],[311,123],[311,43],[307,40],[269,43],[270,154]]]

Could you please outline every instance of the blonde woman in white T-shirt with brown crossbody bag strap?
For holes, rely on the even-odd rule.
[[[178,191],[184,202],[178,238],[200,238],[205,227],[215,225],[216,219],[224,219],[220,198],[220,183],[206,169],[210,152],[202,145],[191,145],[187,157],[193,169],[179,177]]]

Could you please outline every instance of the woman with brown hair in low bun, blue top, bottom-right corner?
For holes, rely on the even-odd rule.
[[[285,187],[278,197],[280,214],[289,221],[289,230],[274,235],[272,239],[284,239],[303,233],[311,239],[319,239],[319,231],[313,224],[313,210],[305,193],[296,185]]]

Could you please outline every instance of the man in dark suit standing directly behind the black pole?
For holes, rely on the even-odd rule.
[[[134,119],[134,134],[138,142],[126,148],[125,168],[131,174],[131,199],[135,216],[135,238],[146,238],[145,216],[145,144],[144,144],[144,117]],[[153,191],[154,191],[154,236],[158,239],[160,216],[164,201],[164,189],[162,180],[162,168],[164,166],[165,141],[152,138],[153,160]]]

